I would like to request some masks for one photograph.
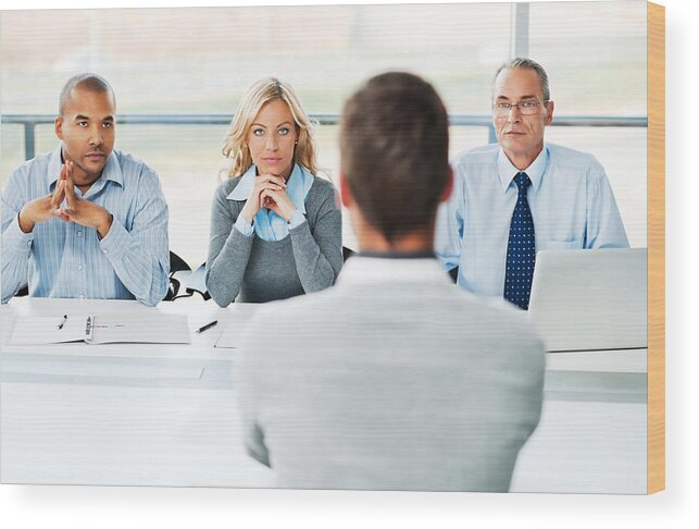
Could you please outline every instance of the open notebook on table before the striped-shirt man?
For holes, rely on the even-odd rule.
[[[162,312],[20,317],[10,336],[12,345],[67,342],[189,344],[191,337],[186,316]]]

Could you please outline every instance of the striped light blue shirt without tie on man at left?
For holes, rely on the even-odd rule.
[[[167,292],[167,205],[158,175],[139,160],[112,151],[102,175],[83,196],[113,217],[100,239],[95,227],[51,219],[30,233],[17,214],[53,193],[61,147],[20,165],[2,193],[2,303],[28,283],[40,297],[138,299],[155,305]],[[65,202],[62,207],[66,207]]]

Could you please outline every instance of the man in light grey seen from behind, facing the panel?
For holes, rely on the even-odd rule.
[[[542,343],[435,258],[439,96],[407,73],[370,79],[340,150],[360,253],[335,286],[258,309],[234,367],[248,453],[286,488],[507,491],[539,420]]]

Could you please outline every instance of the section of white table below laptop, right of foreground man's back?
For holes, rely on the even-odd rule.
[[[645,494],[647,349],[549,353],[544,409],[512,492]]]

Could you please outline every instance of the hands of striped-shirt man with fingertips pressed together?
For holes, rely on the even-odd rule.
[[[63,163],[53,193],[32,200],[22,208],[18,221],[20,229],[24,233],[29,233],[37,223],[54,217],[65,222],[95,227],[100,238],[109,233],[113,217],[101,206],[75,195],[74,171],[75,165],[72,161]],[[66,202],[66,208],[61,208],[63,200]]]

